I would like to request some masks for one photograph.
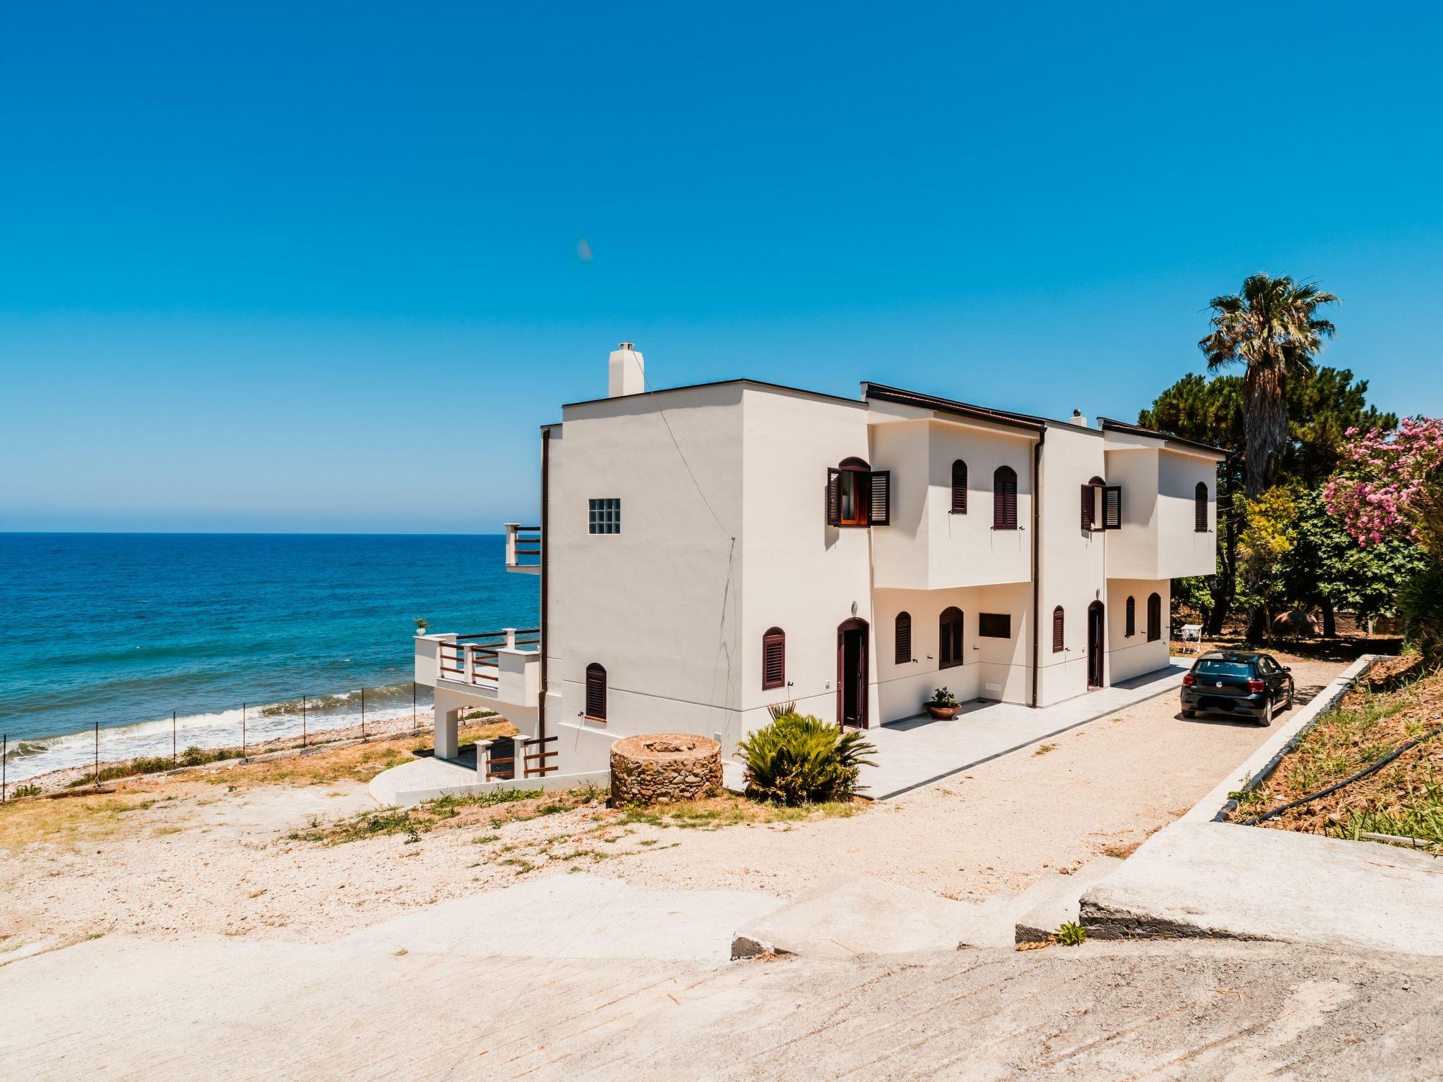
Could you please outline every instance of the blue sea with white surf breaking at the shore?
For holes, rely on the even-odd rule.
[[[535,628],[501,535],[0,534],[0,733],[13,782],[101,759],[411,713],[414,617]],[[418,707],[430,707],[420,688]]]

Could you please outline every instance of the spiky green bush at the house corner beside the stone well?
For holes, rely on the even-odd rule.
[[[737,750],[746,763],[746,792],[776,804],[844,801],[857,791],[857,776],[877,749],[860,733],[807,714],[782,714],[753,731]]]

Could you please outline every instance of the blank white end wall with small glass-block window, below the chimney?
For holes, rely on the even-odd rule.
[[[739,384],[566,408],[551,439],[548,729],[590,724],[592,662],[606,668],[603,739],[726,729],[742,688],[742,476]],[[587,532],[589,501],[612,496],[620,532]]]

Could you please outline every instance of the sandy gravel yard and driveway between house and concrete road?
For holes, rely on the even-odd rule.
[[[1341,662],[1291,661],[1300,701]],[[410,755],[367,744],[0,809],[0,965],[104,933],[326,942],[418,906],[586,868],[635,886],[791,896],[861,873],[981,900],[1121,856],[1203,796],[1268,730],[1183,720],[1176,695],[853,815],[727,825],[596,801],[470,809],[418,834],[315,840],[375,805],[364,779]],[[574,806],[561,806],[563,804]]]

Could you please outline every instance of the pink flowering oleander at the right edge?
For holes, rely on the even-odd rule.
[[[1328,511],[1359,545],[1417,540],[1443,499],[1443,420],[1410,417],[1397,431],[1345,433],[1339,475],[1323,486]]]

